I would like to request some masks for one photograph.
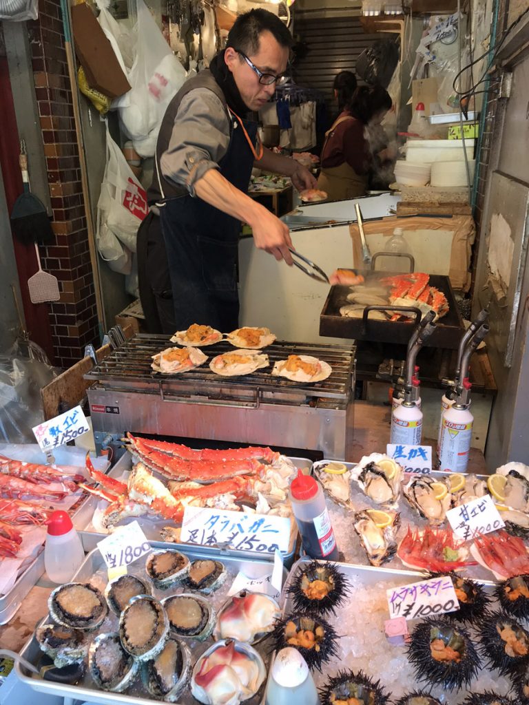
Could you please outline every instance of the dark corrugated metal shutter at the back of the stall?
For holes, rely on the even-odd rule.
[[[327,114],[336,113],[332,94],[334,76],[340,71],[355,71],[358,56],[377,39],[394,35],[367,35],[358,15],[311,17],[310,11],[296,13],[293,34],[305,44],[306,54],[296,61],[294,79],[299,85],[315,88],[325,95]]]

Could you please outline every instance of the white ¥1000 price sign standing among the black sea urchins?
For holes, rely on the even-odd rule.
[[[411,585],[390,587],[386,595],[391,619],[431,617],[459,609],[454,583],[446,575]]]

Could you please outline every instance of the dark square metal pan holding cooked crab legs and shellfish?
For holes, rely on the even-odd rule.
[[[367,271],[366,285],[377,283],[379,278],[391,276],[391,272]],[[402,274],[402,273],[401,273]],[[463,319],[459,313],[450,279],[440,274],[430,274],[430,285],[438,288],[446,296],[449,312],[437,321],[437,329],[425,345],[433,348],[458,348],[463,335]],[[320,314],[320,336],[354,338],[357,341],[377,341],[406,345],[413,331],[413,323],[403,321],[375,321],[369,317],[370,310],[377,307],[366,306],[363,318],[345,318],[340,315],[340,307],[348,304],[346,299],[351,290],[348,286],[333,286]],[[391,307],[391,305],[389,305]],[[420,318],[420,315],[419,315]]]

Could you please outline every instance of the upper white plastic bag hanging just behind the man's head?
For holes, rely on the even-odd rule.
[[[186,70],[172,53],[143,2],[136,0],[135,58],[127,73],[131,90],[112,104],[123,132],[140,157],[152,157],[159,127],[171,98],[186,80]],[[125,63],[125,62],[123,62]]]

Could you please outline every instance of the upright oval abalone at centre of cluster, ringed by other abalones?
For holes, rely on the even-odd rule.
[[[140,661],[149,661],[164,648],[169,620],[161,603],[147,595],[133,597],[119,618],[123,649]]]

